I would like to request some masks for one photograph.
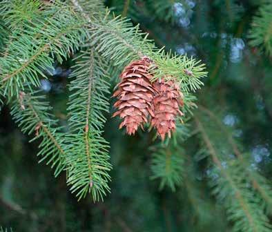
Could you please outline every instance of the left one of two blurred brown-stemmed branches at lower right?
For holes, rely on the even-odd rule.
[[[216,183],[214,193],[224,201],[229,214],[229,220],[234,222],[234,231],[271,231],[272,227],[269,224],[268,218],[262,212],[259,206],[259,199],[248,188],[245,179],[239,177],[243,170],[239,162],[229,162],[227,167],[224,167],[213,144],[211,143],[202,123],[195,117],[197,128],[200,133],[208,153],[211,155],[213,163],[219,171],[219,176],[213,178],[213,183]],[[215,170],[216,173],[216,170]],[[232,198],[237,200],[237,202]]]

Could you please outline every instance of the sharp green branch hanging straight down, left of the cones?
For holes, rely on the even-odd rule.
[[[92,49],[77,57],[72,74],[75,79],[70,84],[68,122],[73,135],[67,137],[68,184],[79,199],[91,192],[95,201],[103,200],[109,191],[108,143],[101,137],[106,122],[103,112],[108,112],[106,69],[103,59]]]

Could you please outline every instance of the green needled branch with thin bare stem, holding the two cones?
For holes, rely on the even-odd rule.
[[[87,17],[78,1],[72,2]],[[90,18],[87,19],[89,21]],[[148,34],[141,32],[139,25],[133,27],[128,19],[120,16],[112,18],[110,12],[106,12],[90,23],[89,31],[91,42],[88,46],[95,46],[101,56],[113,61],[120,69],[132,60],[147,56],[155,62],[154,80],[162,77],[175,79],[185,92],[195,91],[203,85],[200,79],[207,75],[204,64],[192,57],[157,50],[154,43],[147,39]]]

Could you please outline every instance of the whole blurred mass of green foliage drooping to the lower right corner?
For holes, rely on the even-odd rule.
[[[195,118],[203,139],[197,157],[202,160],[210,156],[213,161],[206,173],[213,194],[222,202],[228,220],[234,224],[233,231],[271,231],[266,216],[272,200],[269,184],[250,165],[246,153],[240,153],[239,145],[220,119],[210,110],[201,109],[204,115],[198,114]]]

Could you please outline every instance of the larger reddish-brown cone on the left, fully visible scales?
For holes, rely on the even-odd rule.
[[[143,128],[149,114],[154,116],[152,100],[155,90],[150,83],[152,75],[148,73],[150,64],[150,59],[143,57],[126,66],[113,94],[113,97],[118,98],[114,104],[118,111],[113,117],[119,115],[123,119],[119,128],[126,126],[128,135],[134,134],[138,126]]]

